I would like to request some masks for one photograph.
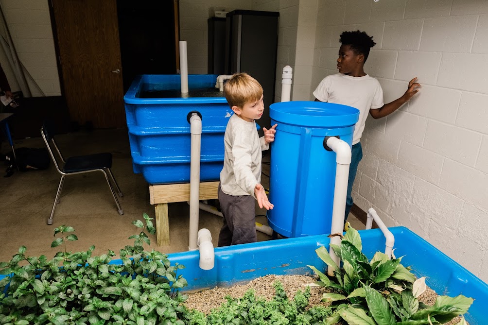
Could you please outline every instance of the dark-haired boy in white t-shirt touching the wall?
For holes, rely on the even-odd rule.
[[[408,82],[408,89],[399,99],[385,104],[383,90],[380,83],[364,71],[364,64],[369,55],[369,49],[376,43],[372,36],[359,30],[343,32],[339,41],[342,43],[337,59],[338,74],[325,77],[313,92],[318,102],[332,102],[359,109],[359,121],[356,123],[352,140],[352,159],[349,167],[349,181],[347,185],[346,215],[352,207],[352,184],[356,178],[358,164],[363,158],[361,135],[365,128],[367,114],[374,119],[385,117],[408,102],[418,92],[417,78]]]

